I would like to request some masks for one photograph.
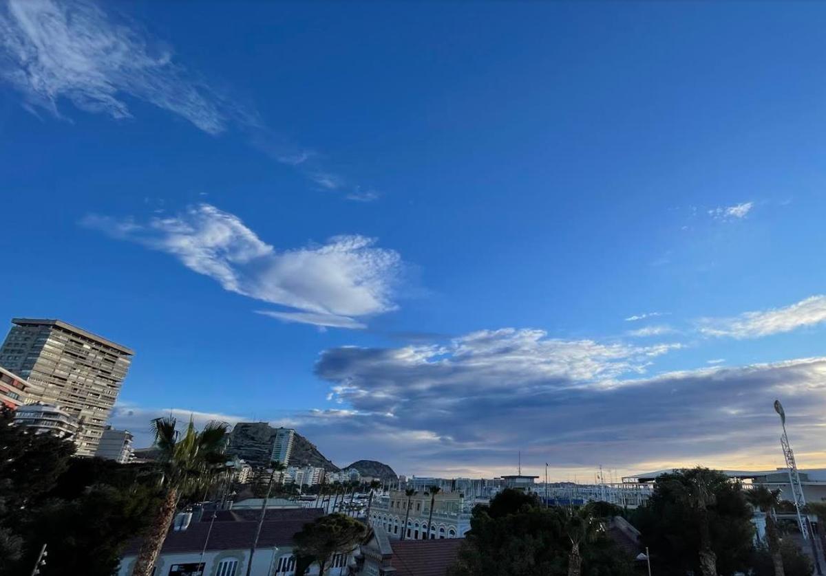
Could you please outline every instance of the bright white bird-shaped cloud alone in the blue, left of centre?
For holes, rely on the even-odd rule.
[[[263,311],[288,321],[363,328],[356,318],[397,308],[393,286],[401,257],[373,238],[337,236],[320,246],[278,251],[235,215],[208,204],[149,224],[91,215],[83,224],[172,254],[225,290],[283,305]]]

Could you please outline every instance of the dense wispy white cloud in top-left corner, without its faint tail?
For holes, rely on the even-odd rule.
[[[61,116],[65,99],[84,111],[128,118],[128,95],[210,134],[225,129],[214,95],[188,78],[168,48],[91,3],[10,0],[0,7],[0,50],[0,75],[32,109]]]

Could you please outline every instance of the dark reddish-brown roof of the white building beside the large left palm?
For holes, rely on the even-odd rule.
[[[252,512],[244,510],[243,512]],[[207,550],[239,550],[249,548],[253,543],[255,527],[258,525],[258,517],[246,520],[237,512],[229,510],[218,512],[219,517],[212,523],[210,531],[210,512],[204,514],[201,522],[192,522],[184,531],[169,531],[164,541],[164,548],[161,554],[174,554],[178,552],[192,552],[204,549]],[[267,516],[261,526],[261,536],[259,536],[259,548],[272,548],[273,546],[291,546],[292,537],[307,522],[312,522],[317,517],[323,516],[324,511],[316,508],[301,508],[298,510],[268,510]],[[244,514],[245,516],[245,514]],[[223,519],[221,519],[223,517]],[[207,534],[209,541],[207,541]],[[136,555],[140,550],[140,539],[130,541],[126,545],[124,555]]]

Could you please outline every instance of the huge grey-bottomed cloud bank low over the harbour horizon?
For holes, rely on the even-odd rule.
[[[648,352],[511,328],[444,346],[334,348],[322,353],[316,374],[357,414],[335,435],[304,426],[332,450],[350,450],[344,438],[367,434],[363,443],[382,452],[373,456],[396,467],[401,460],[415,473],[492,469],[518,448],[534,469],[545,461],[557,468],[711,464],[732,446],[740,458],[771,465],[780,457],[771,404],[781,398],[795,413],[800,450],[826,461],[818,428],[826,424],[826,358],[642,377]],[[398,453],[382,445],[392,430],[420,441]]]

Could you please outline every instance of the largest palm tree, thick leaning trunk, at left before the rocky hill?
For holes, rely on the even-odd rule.
[[[159,451],[162,470],[160,483],[166,493],[158,516],[140,547],[134,576],[152,575],[181,494],[203,488],[211,481],[211,470],[225,460],[223,449],[229,424],[213,421],[198,432],[190,418],[183,435],[175,430],[176,424],[172,416],[152,421],[154,446]]]

